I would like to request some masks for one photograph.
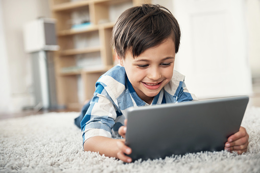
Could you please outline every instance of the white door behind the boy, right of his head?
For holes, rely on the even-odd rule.
[[[175,70],[199,99],[249,95],[252,92],[247,58],[243,0],[174,0],[181,28]]]

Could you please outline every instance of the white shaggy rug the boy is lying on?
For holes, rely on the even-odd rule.
[[[260,172],[260,107],[247,109],[243,155],[205,152],[124,164],[84,152],[79,113],[48,113],[0,121],[0,172]]]

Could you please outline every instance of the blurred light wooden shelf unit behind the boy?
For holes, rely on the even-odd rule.
[[[68,109],[80,110],[84,100],[92,98],[98,78],[114,64],[110,39],[115,21],[109,20],[110,6],[124,3],[136,6],[151,2],[150,0],[49,0],[49,2],[52,16],[57,19],[56,34],[60,46],[54,57],[58,104],[65,105]],[[89,15],[89,26],[72,29],[72,15],[77,12]],[[98,36],[98,45],[92,44],[93,35]],[[79,40],[76,37],[83,40],[86,38],[86,42],[89,43],[78,47]],[[100,56],[100,67],[92,67],[90,64],[82,69],[77,68],[78,56],[87,57],[96,54]],[[70,67],[71,71],[64,71],[64,68]],[[83,89],[81,94],[79,88]],[[82,96],[80,100],[79,95],[83,95],[83,100]]]

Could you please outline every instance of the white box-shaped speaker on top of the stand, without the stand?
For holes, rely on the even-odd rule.
[[[39,18],[23,26],[23,41],[27,53],[57,51],[56,19]]]

